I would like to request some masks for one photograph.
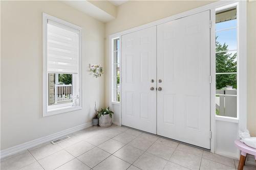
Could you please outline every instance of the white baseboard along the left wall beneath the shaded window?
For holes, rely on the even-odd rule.
[[[27,149],[35,147],[36,145],[51,141],[53,139],[71,134],[71,133],[76,132],[76,131],[80,131],[82,129],[89,128],[91,126],[92,126],[92,122],[89,122],[89,123],[82,124],[82,125],[70,128],[70,129],[66,129],[66,130],[63,130],[63,131],[45,136],[45,137],[41,137],[41,138],[34,139],[34,140],[31,140],[31,141],[28,141],[28,142],[25,142],[25,143],[22,143],[22,144],[15,145],[14,147],[10,147],[10,148],[2,150],[0,152],[0,158],[2,159],[2,158],[5,158],[7,156],[16,154],[18,152],[25,151]]]

